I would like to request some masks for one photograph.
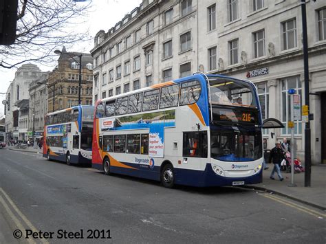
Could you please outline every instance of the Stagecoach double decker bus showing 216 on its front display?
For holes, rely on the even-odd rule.
[[[92,167],[169,188],[257,184],[261,129],[252,82],[197,73],[98,100]]]

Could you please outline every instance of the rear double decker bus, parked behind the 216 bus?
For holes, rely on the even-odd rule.
[[[48,113],[45,117],[43,157],[70,164],[91,164],[94,106]]]

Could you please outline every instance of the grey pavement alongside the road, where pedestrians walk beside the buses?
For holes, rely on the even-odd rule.
[[[43,153],[40,148],[17,149],[12,146],[8,147],[12,151],[24,151],[28,153]],[[270,194],[281,195],[295,201],[307,204],[314,208],[326,211],[326,164],[316,164],[312,166],[311,185],[305,187],[305,173],[294,174],[294,184],[290,186],[291,174],[281,172],[284,180],[279,181],[276,173],[275,179],[270,179],[273,164],[267,164],[268,169],[263,170],[263,182],[261,184],[247,185],[245,188],[254,190],[263,190]]]

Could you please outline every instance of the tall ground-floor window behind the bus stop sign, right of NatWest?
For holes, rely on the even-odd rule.
[[[289,78],[284,78],[281,80],[281,90],[282,90],[282,99],[281,99],[281,121],[284,124],[282,129],[283,135],[290,135],[291,129],[287,128],[287,122],[291,120],[291,110],[290,110],[290,95],[288,93],[289,89],[294,89],[296,94],[299,94],[301,97],[302,104],[302,88],[301,81],[299,76],[293,76]],[[302,133],[302,122],[294,121],[294,134]]]

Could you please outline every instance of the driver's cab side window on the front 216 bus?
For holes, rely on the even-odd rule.
[[[207,157],[207,131],[184,132],[183,157]]]

